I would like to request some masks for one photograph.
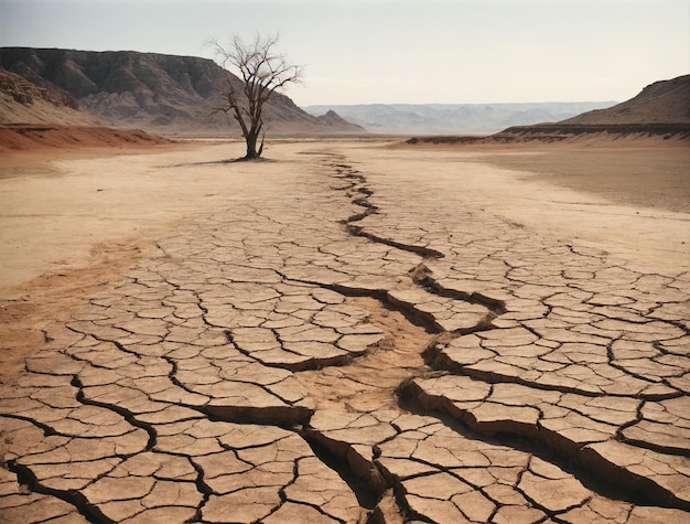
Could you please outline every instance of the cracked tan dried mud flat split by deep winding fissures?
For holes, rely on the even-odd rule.
[[[58,269],[3,282],[0,522],[688,521],[687,213],[481,152],[270,154],[0,181],[4,235],[22,188],[64,206],[45,258],[7,236],[14,280]]]

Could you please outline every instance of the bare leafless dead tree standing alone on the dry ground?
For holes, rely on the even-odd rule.
[[[217,41],[208,43],[227,74],[227,89],[214,113],[230,114],[239,124],[247,142],[245,160],[256,160],[263,152],[263,105],[276,90],[302,79],[303,67],[290,64],[284,55],[277,54],[273,51],[277,44],[278,35],[260,34],[251,43],[235,35],[228,47]],[[239,73],[244,82],[241,92],[233,84],[230,71]],[[261,143],[257,149],[259,137]]]

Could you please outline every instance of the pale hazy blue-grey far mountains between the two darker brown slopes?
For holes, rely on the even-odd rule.
[[[554,122],[614,104],[360,104],[305,106],[303,109],[314,116],[333,110],[371,132],[485,135],[510,126]]]

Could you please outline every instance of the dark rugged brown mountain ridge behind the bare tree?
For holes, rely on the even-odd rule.
[[[63,104],[71,118],[80,110],[84,119],[90,115],[107,126],[157,132],[239,130],[225,114],[209,116],[227,85],[226,71],[211,60],[133,51],[0,47],[0,66],[6,69],[0,124],[54,121],[55,110],[35,110],[32,100],[36,100],[53,108]],[[241,87],[234,75],[231,82]],[[265,117],[269,132],[364,131],[333,113],[310,115],[280,94],[267,103]]]

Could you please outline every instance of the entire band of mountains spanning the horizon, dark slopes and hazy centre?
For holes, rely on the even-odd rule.
[[[164,133],[238,132],[211,116],[227,85],[215,62],[133,51],[0,47],[0,124],[137,127]],[[241,81],[230,75],[235,87]],[[656,82],[630,100],[543,104],[367,104],[298,107],[276,94],[269,132],[490,135],[515,127],[690,124],[690,75]],[[508,129],[506,129],[508,128]],[[656,127],[655,129],[666,129]],[[530,129],[530,133],[533,129]],[[655,131],[656,132],[656,131]],[[659,131],[660,132],[660,131]]]

